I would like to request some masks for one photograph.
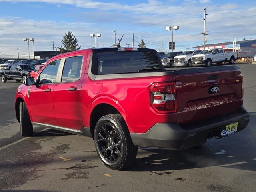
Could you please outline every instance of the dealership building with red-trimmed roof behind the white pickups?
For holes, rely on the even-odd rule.
[[[191,47],[190,49],[202,50],[203,46]],[[238,52],[238,57],[254,57],[256,55],[256,39],[214,43],[205,45],[205,49],[223,48],[226,52]]]

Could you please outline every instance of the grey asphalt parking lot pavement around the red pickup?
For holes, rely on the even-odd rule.
[[[40,127],[22,138],[14,112],[20,83],[0,83],[0,190],[255,191],[256,64],[239,67],[250,113],[245,130],[188,150],[140,148],[135,164],[122,171],[101,163],[91,138]]]

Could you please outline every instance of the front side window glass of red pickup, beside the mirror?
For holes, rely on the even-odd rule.
[[[55,83],[59,65],[60,65],[60,60],[50,62],[40,74],[39,83],[40,84]]]

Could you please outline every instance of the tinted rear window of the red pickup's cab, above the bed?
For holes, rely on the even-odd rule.
[[[161,70],[155,52],[99,52],[95,62],[97,71],[92,72],[99,75]]]

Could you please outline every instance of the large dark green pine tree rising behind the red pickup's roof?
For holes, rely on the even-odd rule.
[[[81,48],[81,46],[78,47],[78,42],[77,42],[76,36],[73,36],[72,32],[70,32],[70,31],[68,31],[68,34],[65,33],[61,42],[62,42],[64,48],[62,46],[58,47],[60,50],[60,53],[77,51]]]

